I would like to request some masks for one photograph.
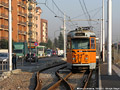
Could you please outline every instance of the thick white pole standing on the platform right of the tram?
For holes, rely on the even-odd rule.
[[[108,75],[112,75],[112,0],[108,0]]]

